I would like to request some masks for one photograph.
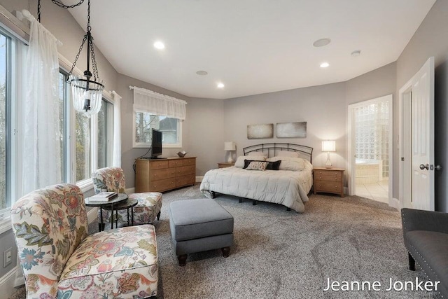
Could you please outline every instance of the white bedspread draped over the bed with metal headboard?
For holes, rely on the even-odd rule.
[[[227,167],[209,170],[200,186],[201,192],[212,192],[283,204],[297,213],[304,212],[304,202],[313,183],[311,164],[302,171],[246,170]]]

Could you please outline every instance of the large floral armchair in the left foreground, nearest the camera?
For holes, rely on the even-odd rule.
[[[155,229],[139,225],[87,235],[83,193],[62,184],[11,208],[27,298],[150,298],[157,295]]]

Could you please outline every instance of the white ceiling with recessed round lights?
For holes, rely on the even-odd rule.
[[[90,22],[95,45],[120,74],[188,97],[228,99],[347,81],[394,62],[434,3],[92,0]],[[85,28],[87,1],[70,12]],[[331,43],[314,47],[322,38]]]

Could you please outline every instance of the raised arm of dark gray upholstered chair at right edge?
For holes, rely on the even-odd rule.
[[[404,234],[412,230],[448,233],[448,213],[403,208],[401,221]]]

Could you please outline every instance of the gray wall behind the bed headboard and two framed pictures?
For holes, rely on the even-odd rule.
[[[226,99],[224,136],[237,143],[237,155],[253,144],[287,142],[314,148],[313,165],[322,166],[326,153],[321,141],[336,140],[336,153],[330,159],[334,167],[345,167],[346,158],[345,83],[298,88],[262,95]],[[307,122],[306,138],[247,139],[247,125]],[[222,145],[223,146],[223,145]]]

